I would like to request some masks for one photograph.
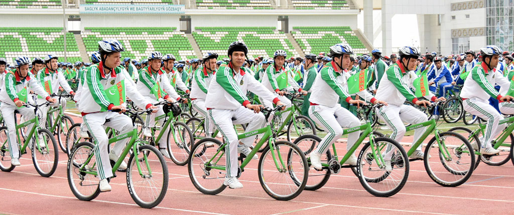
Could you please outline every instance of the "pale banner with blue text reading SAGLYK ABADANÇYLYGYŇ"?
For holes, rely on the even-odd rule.
[[[185,13],[184,5],[80,5],[80,13]]]

